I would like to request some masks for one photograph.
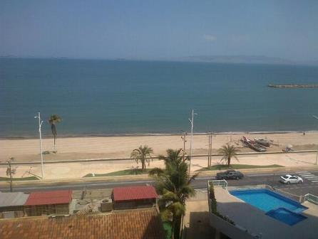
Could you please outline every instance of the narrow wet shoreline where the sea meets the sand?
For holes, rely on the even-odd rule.
[[[196,132],[193,135],[208,135],[210,133],[215,135],[237,135],[237,134],[301,134],[301,133],[318,133],[318,130],[287,130],[287,131],[234,131],[234,132]],[[190,135],[190,132],[186,132]],[[135,133],[135,134],[64,134],[56,137],[56,139],[67,139],[67,138],[103,138],[103,137],[160,137],[160,136],[183,136],[182,133]],[[42,139],[52,139],[52,136],[43,136]],[[23,139],[39,139],[39,136],[0,136],[0,140],[23,140]]]

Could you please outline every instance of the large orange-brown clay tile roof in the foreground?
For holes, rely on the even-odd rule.
[[[40,226],[41,225],[41,226]],[[0,220],[1,239],[164,238],[155,208],[96,216],[19,218]]]

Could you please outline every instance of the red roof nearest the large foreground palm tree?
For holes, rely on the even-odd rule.
[[[158,198],[153,186],[131,186],[113,189],[114,201]]]

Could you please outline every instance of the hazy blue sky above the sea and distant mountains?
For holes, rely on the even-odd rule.
[[[1,0],[0,55],[318,60],[318,1]]]

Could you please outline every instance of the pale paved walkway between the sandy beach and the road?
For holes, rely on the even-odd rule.
[[[240,161],[232,160],[232,164],[252,164],[252,165],[271,165],[279,164],[285,167],[302,167],[317,166],[315,165],[315,153],[294,153],[294,154],[257,154],[240,156]],[[220,164],[220,156],[215,156],[212,159],[212,165]],[[74,179],[82,178],[86,174],[106,174],[113,171],[133,169],[139,166],[135,161],[96,161],[96,162],[72,162],[72,163],[58,163],[45,164],[44,160],[44,174],[45,179]],[[163,167],[163,161],[150,162],[149,168]],[[207,166],[207,158],[199,157],[193,158],[191,170],[196,171]],[[6,165],[0,165],[0,176],[6,176]],[[16,174],[14,177],[26,176],[41,176],[41,165],[14,165]],[[301,171],[303,171],[301,169]]]

